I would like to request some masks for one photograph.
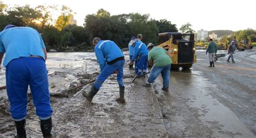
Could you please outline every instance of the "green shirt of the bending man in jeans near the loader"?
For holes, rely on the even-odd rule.
[[[148,56],[148,60],[154,61],[154,66],[164,67],[172,63],[171,57],[166,54],[163,47],[153,47]]]

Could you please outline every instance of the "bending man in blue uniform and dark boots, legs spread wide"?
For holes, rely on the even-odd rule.
[[[117,74],[117,82],[119,84],[119,95],[117,99],[120,103],[125,103],[124,99],[124,84],[123,84],[123,67],[124,67],[124,54],[121,49],[110,40],[100,40],[94,38],[92,45],[95,46],[95,54],[100,66],[100,74],[98,75],[95,83],[91,85],[89,92],[83,92],[83,96],[87,100],[92,101],[93,96],[99,91],[100,86],[111,74]]]

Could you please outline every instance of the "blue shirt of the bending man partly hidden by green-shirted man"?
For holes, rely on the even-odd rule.
[[[147,46],[142,41],[136,41],[134,44],[134,53],[132,56],[132,61],[134,61],[138,56],[147,56],[149,50]]]

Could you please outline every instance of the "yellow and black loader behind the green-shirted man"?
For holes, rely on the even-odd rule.
[[[194,34],[181,34],[166,32],[158,34],[159,47],[167,50],[172,59],[172,68],[182,67],[189,69],[197,62],[196,49],[194,48]]]

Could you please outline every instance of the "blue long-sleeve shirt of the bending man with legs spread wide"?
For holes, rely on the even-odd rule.
[[[95,46],[94,51],[101,71],[104,69],[106,62],[124,56],[116,43],[110,40],[100,40]]]

